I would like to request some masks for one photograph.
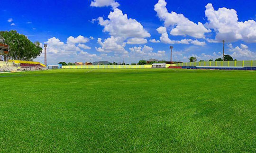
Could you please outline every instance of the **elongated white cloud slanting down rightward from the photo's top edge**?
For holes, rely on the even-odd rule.
[[[211,32],[209,29],[206,29],[201,22],[195,24],[184,17],[183,14],[177,14],[176,12],[169,13],[166,4],[165,0],[158,0],[154,10],[157,12],[157,16],[165,21],[165,27],[173,27],[170,34],[205,38],[204,34]]]

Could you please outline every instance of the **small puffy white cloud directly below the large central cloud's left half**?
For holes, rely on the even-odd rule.
[[[98,43],[101,45],[99,48],[95,48],[99,52],[111,52],[114,51],[115,53],[128,53],[124,47],[126,46],[126,43],[123,42],[123,39],[120,37],[114,37],[111,36],[110,38],[107,38],[104,40],[104,42],[101,42],[101,38],[98,38]]]

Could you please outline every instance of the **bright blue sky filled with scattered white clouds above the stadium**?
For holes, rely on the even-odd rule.
[[[48,63],[256,59],[254,0],[1,0],[0,30],[47,43]],[[37,61],[43,62],[44,56]]]

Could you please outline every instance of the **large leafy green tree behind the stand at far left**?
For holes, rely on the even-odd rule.
[[[0,31],[0,40],[9,46],[6,59],[32,61],[42,53],[40,42],[33,43],[27,36],[18,34],[15,30]]]

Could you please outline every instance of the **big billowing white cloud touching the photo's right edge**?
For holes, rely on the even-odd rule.
[[[214,10],[212,4],[205,6],[205,16],[208,18],[206,27],[214,29],[216,37],[213,42],[227,42],[243,40],[245,42],[256,42],[256,22],[248,20],[238,21],[237,11],[229,8]]]

